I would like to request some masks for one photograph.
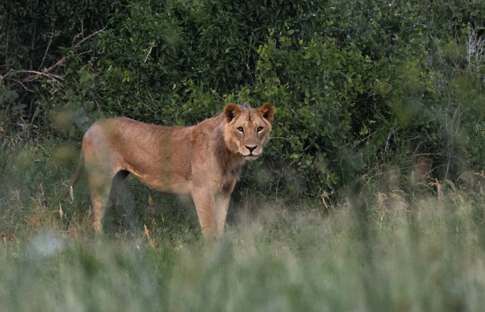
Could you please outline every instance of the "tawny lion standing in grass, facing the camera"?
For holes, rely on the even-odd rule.
[[[227,103],[224,112],[197,125],[169,127],[125,117],[96,121],[82,139],[78,169],[69,187],[87,171],[93,229],[103,232],[103,215],[130,173],[157,191],[190,194],[202,234],[224,232],[239,169],[263,152],[274,107],[257,110]]]

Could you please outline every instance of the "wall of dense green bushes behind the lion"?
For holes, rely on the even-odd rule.
[[[91,2],[3,4],[8,132],[79,138],[122,115],[189,125],[224,101],[270,101],[275,139],[245,187],[261,170],[265,191],[299,196],[382,163],[425,157],[452,179],[483,164],[482,1]]]

